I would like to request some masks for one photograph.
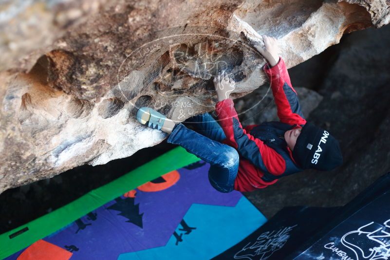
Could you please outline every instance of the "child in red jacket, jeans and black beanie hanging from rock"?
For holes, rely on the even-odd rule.
[[[226,73],[214,77],[219,123],[209,113],[200,114],[187,120],[196,122],[194,131],[150,108],[137,111],[140,123],[167,132],[168,143],[180,145],[209,163],[209,181],[221,192],[252,191],[303,169],[327,171],[342,164],[334,137],[303,118],[286,65],[279,57],[276,39],[262,37],[265,48],[255,48],[268,61],[263,70],[270,79],[280,122],[243,128],[229,98],[234,81]]]

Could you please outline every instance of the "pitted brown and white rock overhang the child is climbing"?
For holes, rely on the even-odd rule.
[[[338,43],[344,33],[388,23],[390,2],[61,4],[64,24],[57,23],[50,37],[43,34],[49,41],[59,38],[29,45],[27,58],[14,52],[2,62],[4,69],[11,68],[7,61],[19,60],[18,69],[0,74],[0,192],[158,144],[166,135],[138,124],[137,108],[150,106],[179,122],[212,111],[211,79],[221,70],[237,82],[234,98],[251,93],[266,83],[264,60],[252,47],[261,43],[260,34],[278,38],[281,56],[292,67]],[[23,15],[28,12],[18,14]],[[19,40],[11,29],[11,45],[23,49],[26,37]],[[43,41],[27,36],[33,38]]]

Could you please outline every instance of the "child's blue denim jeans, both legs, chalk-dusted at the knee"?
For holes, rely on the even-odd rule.
[[[197,131],[176,125],[167,142],[180,145],[188,152],[210,164],[208,179],[215,189],[230,192],[234,189],[239,166],[239,154],[236,149],[220,143],[226,136],[221,126],[209,113],[193,116],[187,122]]]

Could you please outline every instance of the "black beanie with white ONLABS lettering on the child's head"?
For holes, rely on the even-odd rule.
[[[304,169],[332,170],[343,163],[337,140],[312,123],[303,126],[293,150],[297,164]]]

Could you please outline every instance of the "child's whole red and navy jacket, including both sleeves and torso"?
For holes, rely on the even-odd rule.
[[[239,191],[264,188],[276,183],[280,177],[302,170],[295,163],[291,150],[284,141],[286,130],[306,124],[297,93],[291,86],[281,57],[276,66],[269,68],[266,64],[263,70],[270,79],[280,122],[265,122],[243,128],[230,98],[218,102],[215,109],[226,135],[223,143],[237,149],[240,154],[234,185]]]

